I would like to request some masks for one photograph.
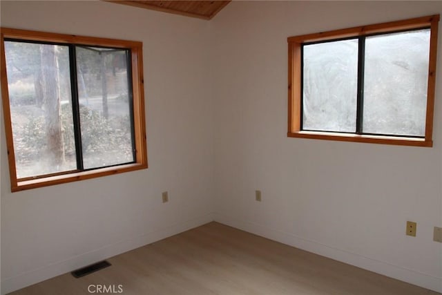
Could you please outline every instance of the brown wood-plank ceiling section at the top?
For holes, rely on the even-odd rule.
[[[103,0],[106,2],[136,6],[150,10],[185,15],[186,17],[198,17],[200,19],[211,19],[229,1],[143,1],[143,0]]]

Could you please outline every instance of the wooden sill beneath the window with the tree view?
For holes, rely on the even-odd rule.
[[[113,175],[118,173],[124,173],[128,171],[135,171],[146,169],[147,164],[125,164],[113,167],[107,167],[102,169],[94,169],[90,171],[82,171],[75,173],[68,173],[63,175],[50,176],[47,178],[36,178],[32,180],[18,180],[17,186],[12,185],[11,191],[24,191],[26,189],[35,189],[38,187],[48,187],[54,184],[62,184],[67,182],[74,182],[78,180],[86,180],[90,178],[98,178],[106,175]]]

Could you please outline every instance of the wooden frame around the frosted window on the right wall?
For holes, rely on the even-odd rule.
[[[308,35],[288,37],[289,73],[288,73],[288,131],[287,137],[310,138],[317,140],[338,140],[345,142],[366,142],[376,144],[395,144],[405,146],[431,147],[434,117],[434,94],[436,84],[436,53],[439,15],[418,17],[402,21],[391,21],[369,26],[358,26],[341,30],[331,30]],[[318,41],[332,41],[369,35],[378,35],[403,30],[430,28],[430,59],[428,67],[427,108],[425,116],[425,136],[410,137],[396,135],[368,135],[358,133],[340,133],[332,131],[302,130],[302,44]],[[356,99],[356,98],[355,98]]]

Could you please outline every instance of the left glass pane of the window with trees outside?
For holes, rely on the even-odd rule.
[[[67,46],[5,41],[17,178],[77,169]]]

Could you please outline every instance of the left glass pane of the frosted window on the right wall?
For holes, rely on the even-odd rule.
[[[358,40],[303,46],[302,129],[356,131]]]

